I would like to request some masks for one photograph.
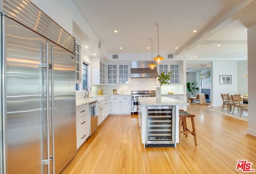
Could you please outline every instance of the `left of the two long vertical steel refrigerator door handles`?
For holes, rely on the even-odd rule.
[[[49,43],[46,42],[46,109],[47,109],[47,160],[48,174],[50,174],[50,109],[49,109]]]

